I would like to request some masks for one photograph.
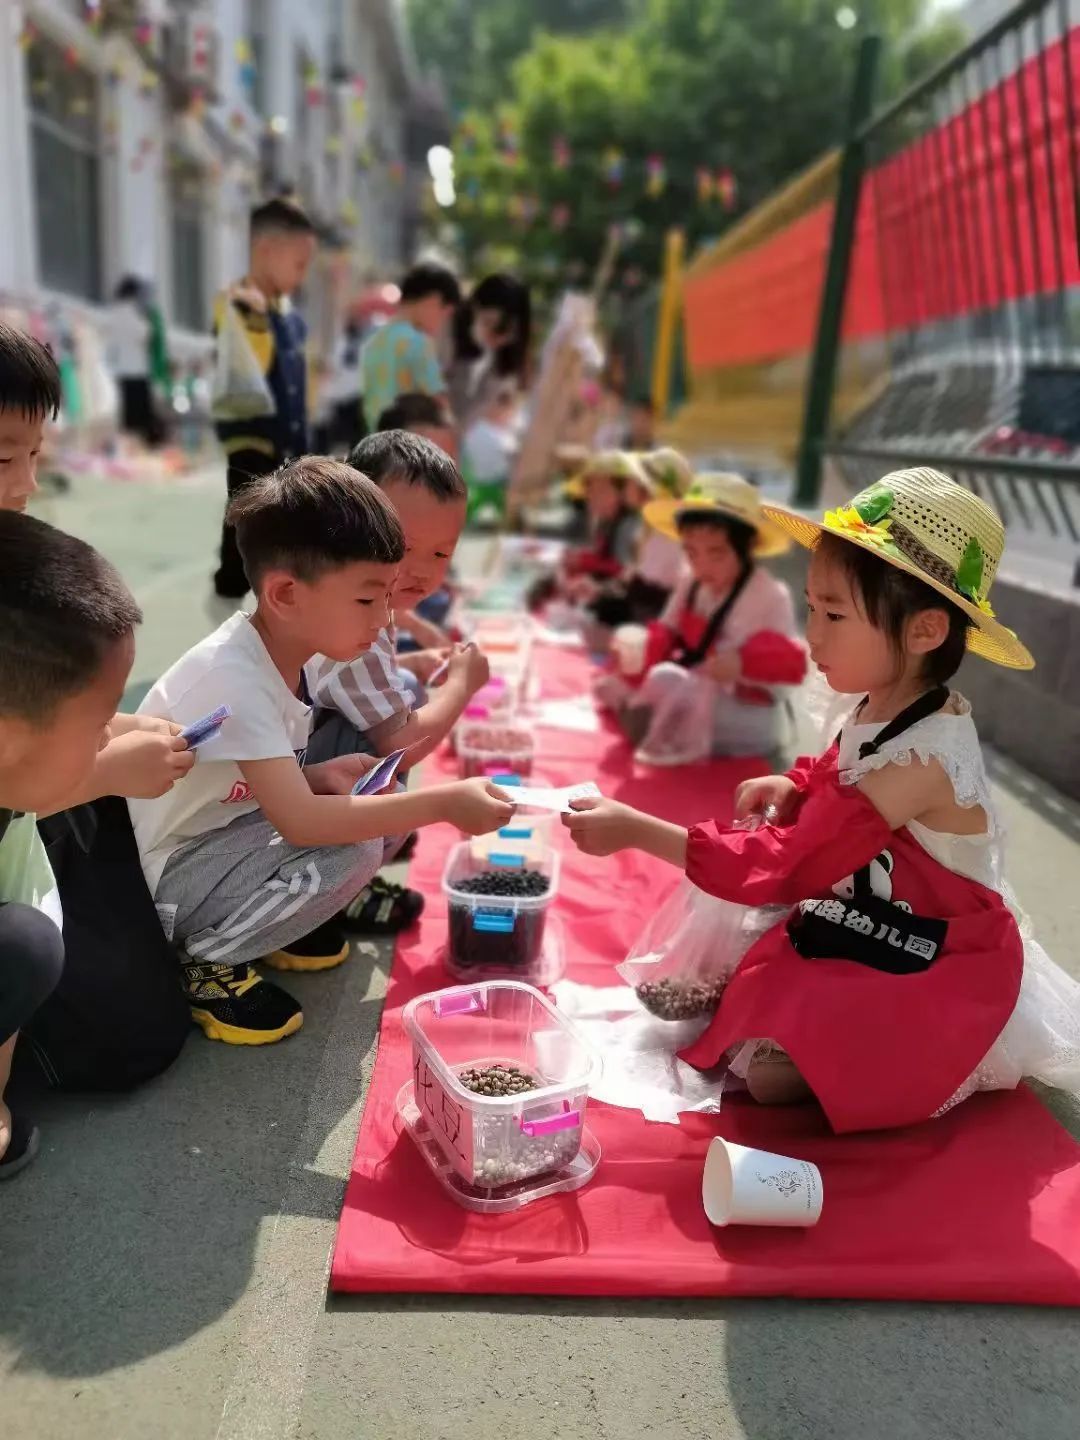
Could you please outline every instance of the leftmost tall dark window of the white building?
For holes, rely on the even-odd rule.
[[[101,300],[98,81],[39,36],[26,52],[42,285]]]

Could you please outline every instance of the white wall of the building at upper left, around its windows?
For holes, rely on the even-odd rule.
[[[220,99],[202,118],[177,115],[164,84],[140,86],[143,71],[132,43],[107,33],[98,37],[73,0],[0,0],[0,194],[6,197],[0,223],[0,304],[69,307],[81,315],[102,317],[102,307],[82,297],[50,291],[42,284],[35,210],[33,164],[26,85],[26,53],[17,43],[29,19],[40,36],[73,45],[79,65],[98,76],[101,134],[102,300],[127,274],[153,279],[166,317],[174,317],[170,153],[203,170],[200,209],[204,289],[210,295],[246,268],[246,216],[262,192],[259,176],[266,125],[285,122],[275,141],[279,179],[307,174],[317,219],[347,235],[354,276],[395,276],[402,255],[405,186],[390,167],[405,160],[408,76],[410,58],[400,50],[396,27],[387,23],[397,0],[256,0],[262,4],[265,37],[264,115],[256,115],[242,82],[238,42],[246,39],[248,0],[207,0],[202,14],[217,32]],[[170,4],[170,13],[179,6]],[[164,13],[164,0],[158,0]],[[153,0],[151,0],[153,13]],[[304,55],[318,72],[327,104],[304,105]],[[331,109],[331,63],[347,66],[366,84],[366,120],[356,122],[346,101]],[[124,79],[117,84],[121,71]],[[354,92],[351,85],[346,94]],[[336,117],[344,128],[336,131]],[[298,120],[310,135],[298,153]],[[330,141],[330,148],[327,145]],[[356,161],[370,145],[374,163],[359,171]],[[245,189],[246,186],[246,189]],[[177,359],[204,353],[204,334],[170,325]]]

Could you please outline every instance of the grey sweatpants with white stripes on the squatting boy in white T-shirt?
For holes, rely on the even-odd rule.
[[[187,965],[245,965],[330,920],[383,864],[397,840],[301,850],[261,811],[174,851],[154,897]]]

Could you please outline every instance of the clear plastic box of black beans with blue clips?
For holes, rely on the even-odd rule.
[[[543,894],[514,893],[516,878],[526,873],[539,873],[547,880]],[[505,893],[477,893],[472,886],[484,874],[498,877]],[[544,847],[541,858],[533,861],[513,841],[507,841],[503,851],[490,848],[487,855],[478,855],[471,841],[455,845],[442,873],[451,975],[468,981],[510,976],[533,985],[554,985],[564,969],[563,949],[554,943],[553,927],[547,924],[557,888],[556,850]]]

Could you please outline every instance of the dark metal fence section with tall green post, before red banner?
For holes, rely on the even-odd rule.
[[[867,65],[864,46],[799,495],[824,458],[852,482],[932,464],[1080,583],[1080,0],[1025,0],[870,118]],[[838,432],[855,265],[876,275],[890,379]]]

